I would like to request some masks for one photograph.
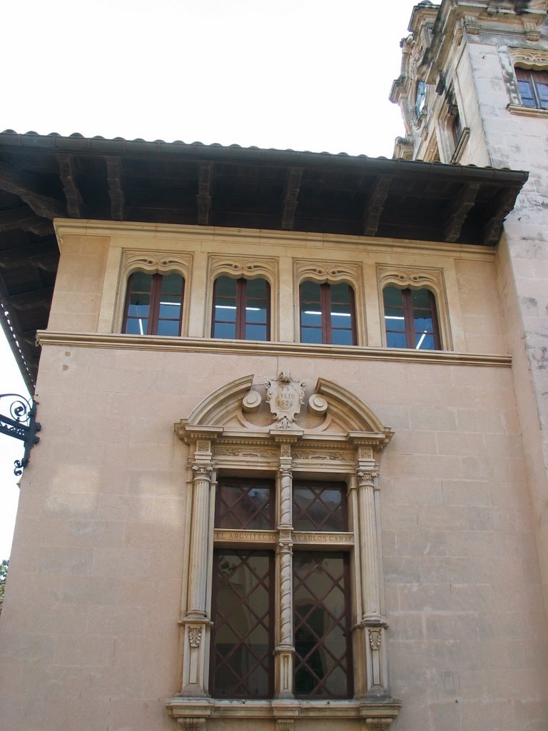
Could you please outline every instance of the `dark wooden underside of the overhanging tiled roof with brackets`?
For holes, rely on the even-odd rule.
[[[237,145],[0,134],[0,298],[32,386],[54,218],[494,246],[527,173]],[[13,338],[12,338],[13,339]],[[17,348],[15,348],[17,350]]]

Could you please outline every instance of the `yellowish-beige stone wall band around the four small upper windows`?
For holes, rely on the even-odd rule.
[[[445,349],[457,352],[506,352],[501,307],[489,284],[493,251],[477,246],[438,245],[358,236],[296,234],[200,227],[58,221],[63,257],[50,329],[64,332],[119,333],[123,317],[127,260],[139,254],[175,252],[188,267],[183,336],[210,333],[214,272],[222,263],[259,263],[273,282],[273,341],[299,341],[298,281],[313,270],[342,270],[356,292],[358,344],[382,346],[383,314],[378,267],[403,272],[434,270],[441,281],[438,308],[447,313]],[[83,233],[88,232],[85,245]],[[93,235],[89,235],[93,232]],[[93,271],[93,282],[77,289],[79,272]],[[225,271],[229,271],[225,268]]]

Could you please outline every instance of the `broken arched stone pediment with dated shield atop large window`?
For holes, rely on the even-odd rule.
[[[200,433],[365,439],[377,448],[384,447],[392,436],[376,414],[346,388],[323,378],[312,388],[287,372],[266,382],[254,383],[254,376],[248,375],[221,386],[187,419],[176,423],[175,431],[181,439],[195,439]]]

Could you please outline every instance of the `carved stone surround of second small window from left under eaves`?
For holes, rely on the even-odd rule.
[[[270,322],[270,341],[279,339],[278,314],[278,260],[270,257],[227,257],[211,254],[208,262],[208,298],[206,301],[204,336],[209,338],[213,332],[213,305],[215,281],[220,276],[231,279],[265,279],[270,287],[268,320]]]

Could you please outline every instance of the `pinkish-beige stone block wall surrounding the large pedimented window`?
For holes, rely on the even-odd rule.
[[[509,368],[53,345],[42,357],[42,442],[0,624],[1,727],[174,727],[186,452],[172,424],[231,379],[289,369],[346,387],[395,430],[379,484],[398,731],[541,731],[546,624]]]

